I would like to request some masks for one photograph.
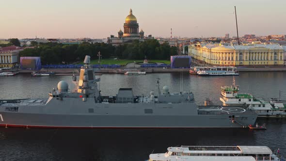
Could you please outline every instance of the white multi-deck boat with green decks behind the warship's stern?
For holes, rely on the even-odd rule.
[[[254,110],[258,117],[286,117],[286,104],[277,98],[271,98],[269,102],[262,98],[254,97],[250,93],[238,93],[239,86],[235,84],[231,86],[221,87],[220,100],[223,106],[244,105]],[[279,94],[280,95],[280,94]]]

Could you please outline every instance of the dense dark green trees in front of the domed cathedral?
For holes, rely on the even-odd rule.
[[[88,43],[65,45],[61,43],[38,44],[32,42],[35,48],[26,48],[20,51],[19,56],[40,56],[42,64],[61,64],[62,62],[74,63],[83,61],[85,55],[90,55],[91,59],[98,59],[100,51],[101,58],[116,57],[119,59],[162,59],[170,60],[171,55],[177,54],[177,48],[171,47],[167,42],[159,44],[156,39],[139,42],[133,41],[131,44],[112,46],[106,43]]]

